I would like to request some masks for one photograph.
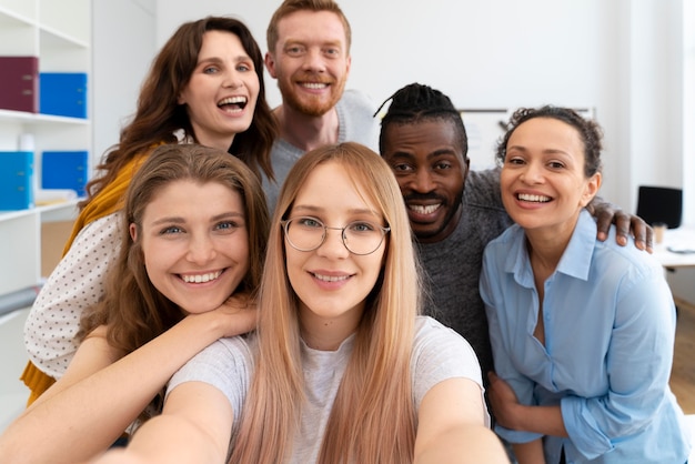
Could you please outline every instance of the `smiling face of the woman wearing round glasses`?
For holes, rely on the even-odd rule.
[[[345,169],[334,161],[313,169],[286,216],[315,218],[329,228],[344,228],[354,221],[386,225],[375,205],[360,195]],[[288,276],[300,300],[308,343],[328,337],[340,342],[354,332],[381,272],[386,243],[384,239],[373,253],[355,255],[343,244],[340,230],[329,230],[323,244],[306,252],[284,239]]]

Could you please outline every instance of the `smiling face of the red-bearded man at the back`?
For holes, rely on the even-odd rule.
[[[265,64],[283,103],[313,117],[332,110],[350,72],[348,47],[345,28],[331,11],[301,10],[282,18]]]

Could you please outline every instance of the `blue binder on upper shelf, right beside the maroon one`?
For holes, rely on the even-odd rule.
[[[70,118],[87,118],[87,73],[41,72],[39,112]]]

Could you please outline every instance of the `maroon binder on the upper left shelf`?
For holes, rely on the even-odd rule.
[[[39,111],[38,57],[0,57],[0,108]]]

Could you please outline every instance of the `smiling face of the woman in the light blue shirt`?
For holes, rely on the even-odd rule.
[[[553,118],[521,123],[506,144],[500,176],[510,216],[527,232],[568,240],[601,186],[601,173],[586,178],[584,164],[584,143],[572,125]]]

